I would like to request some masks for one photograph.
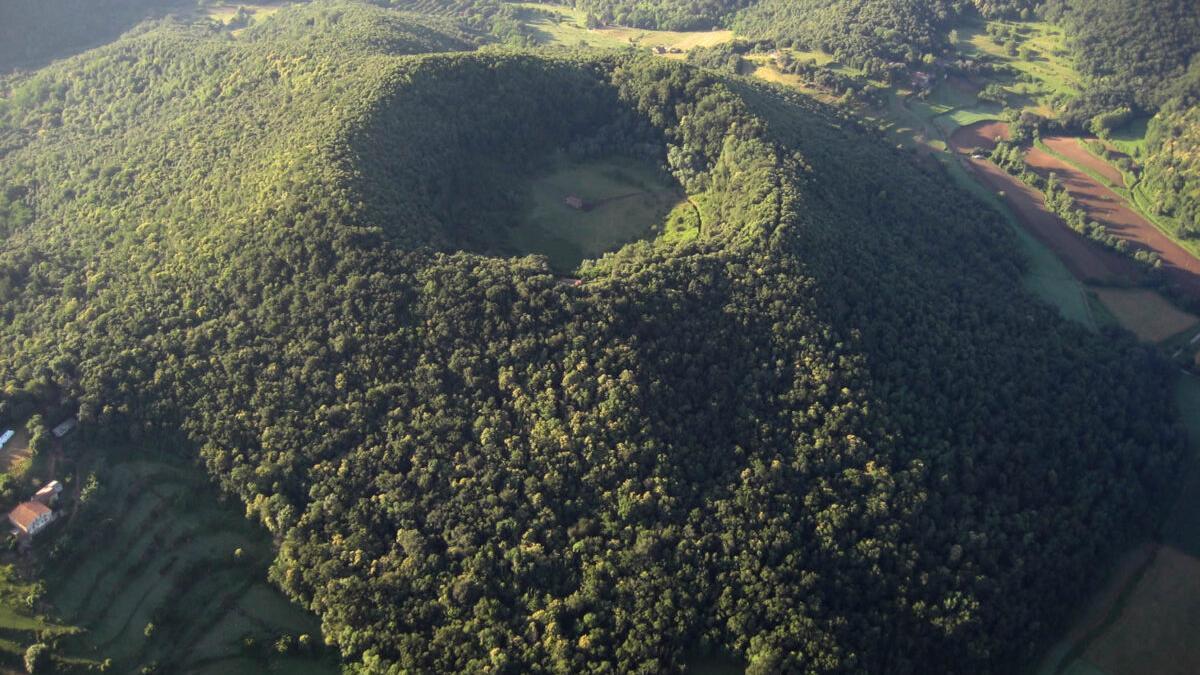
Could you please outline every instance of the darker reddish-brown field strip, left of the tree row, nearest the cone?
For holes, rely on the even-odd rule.
[[[1052,249],[1078,279],[1098,282],[1136,281],[1141,273],[1133,261],[1070,229],[1062,219],[1046,210],[1040,192],[1008,175],[989,160],[966,156],[974,148],[995,147],[997,137],[1008,138],[1008,125],[998,121],[978,123],[955,131],[950,136],[950,147],[983,185],[1004,193],[1004,202],[1021,222]]]

